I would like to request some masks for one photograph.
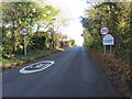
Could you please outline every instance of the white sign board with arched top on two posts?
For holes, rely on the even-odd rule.
[[[114,38],[111,34],[105,35],[103,45],[114,45]]]

